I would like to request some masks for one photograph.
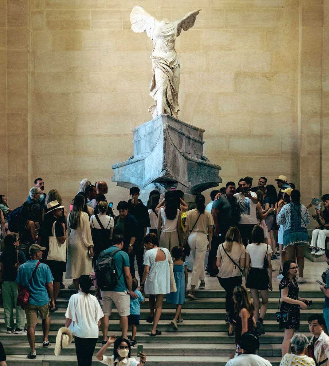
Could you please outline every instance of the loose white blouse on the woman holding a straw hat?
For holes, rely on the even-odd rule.
[[[65,317],[72,319],[69,329],[73,336],[98,338],[97,322],[104,314],[95,296],[79,292],[70,297]]]

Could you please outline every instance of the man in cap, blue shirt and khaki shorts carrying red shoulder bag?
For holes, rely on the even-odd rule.
[[[37,244],[30,246],[28,253],[31,255],[31,260],[22,264],[17,273],[16,283],[18,284],[18,291],[22,287],[28,286],[32,273],[42,258],[42,251],[45,249],[45,247]],[[39,323],[38,312],[42,319],[42,346],[50,346],[48,340],[50,328],[49,299],[50,309],[55,308],[53,284],[51,281],[53,281],[53,276],[51,275],[50,268],[46,264],[40,263],[30,284],[28,303],[24,306],[27,322],[27,339],[31,347],[31,352],[27,357],[30,359],[37,358],[37,353],[35,352],[35,326]]]

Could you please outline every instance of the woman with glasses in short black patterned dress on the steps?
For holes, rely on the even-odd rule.
[[[299,329],[299,307],[307,309],[308,300],[298,296],[299,288],[296,280],[298,266],[293,261],[286,261],[283,264],[279,290],[282,299],[280,311],[288,312],[288,321],[280,323],[280,329],[284,329],[284,339],[282,343],[282,357],[290,350],[290,340],[295,329]]]

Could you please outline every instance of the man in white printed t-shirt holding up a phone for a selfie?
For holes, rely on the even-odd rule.
[[[249,243],[252,243],[252,229],[257,224],[256,206],[258,201],[257,194],[250,191],[248,177],[241,178],[238,184],[240,193],[234,194],[234,197],[236,197],[240,206],[241,217],[238,228],[240,230],[242,242],[246,247],[248,245],[248,240]]]

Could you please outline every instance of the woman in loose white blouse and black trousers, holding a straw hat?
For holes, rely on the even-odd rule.
[[[104,317],[95,296],[89,294],[91,277],[79,277],[80,292],[70,297],[65,313],[65,326],[74,336],[79,366],[91,366],[91,359],[98,340],[100,320]]]

